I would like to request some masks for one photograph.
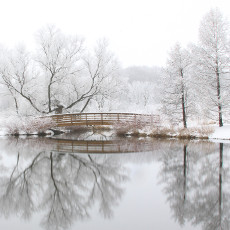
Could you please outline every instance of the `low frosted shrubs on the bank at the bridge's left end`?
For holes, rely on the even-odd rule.
[[[52,118],[49,117],[9,117],[5,121],[7,134],[42,134],[55,127]]]

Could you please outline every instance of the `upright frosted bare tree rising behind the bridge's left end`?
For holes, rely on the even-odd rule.
[[[81,69],[82,50],[82,39],[66,36],[54,26],[38,32],[35,63],[42,80],[42,104],[47,112],[64,103],[70,81]]]

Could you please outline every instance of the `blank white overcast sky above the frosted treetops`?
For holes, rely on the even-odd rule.
[[[164,65],[179,41],[196,42],[204,14],[219,7],[230,19],[229,0],[0,0],[0,43],[28,46],[47,24],[83,36],[108,38],[124,67]]]

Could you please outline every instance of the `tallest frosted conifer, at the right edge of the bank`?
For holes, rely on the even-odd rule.
[[[206,115],[223,126],[223,114],[229,109],[230,96],[229,26],[218,9],[204,16],[199,34],[193,57],[200,102],[206,108]]]

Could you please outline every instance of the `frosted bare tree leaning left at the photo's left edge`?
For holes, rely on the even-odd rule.
[[[14,51],[4,51],[4,58],[0,61],[0,82],[14,99],[16,112],[19,110],[20,99],[29,102],[36,111],[40,111],[36,104],[35,79],[31,55],[24,46],[18,46]]]

